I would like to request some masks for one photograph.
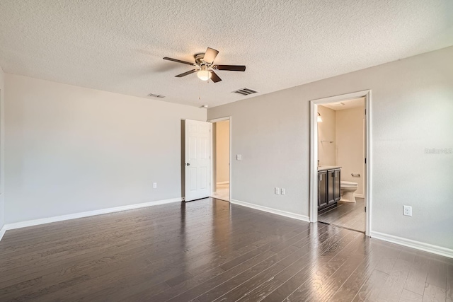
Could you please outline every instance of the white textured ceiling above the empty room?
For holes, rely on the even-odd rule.
[[[0,66],[211,107],[453,45],[452,0],[0,0]],[[206,47],[223,81],[175,78]],[[257,95],[257,94],[254,94]]]

